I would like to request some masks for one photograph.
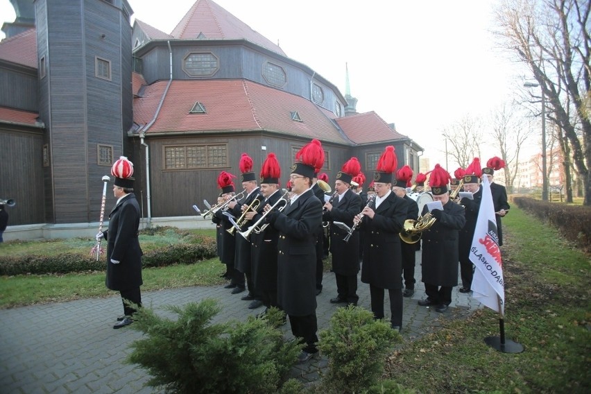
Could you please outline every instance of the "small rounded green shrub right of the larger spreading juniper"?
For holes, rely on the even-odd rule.
[[[374,320],[358,307],[338,308],[329,329],[320,332],[318,348],[328,357],[325,392],[361,393],[384,373],[386,355],[400,342],[390,323]]]

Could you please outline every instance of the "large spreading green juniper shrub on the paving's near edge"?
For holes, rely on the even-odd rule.
[[[301,350],[266,320],[211,324],[220,311],[215,300],[168,309],[177,320],[148,308],[135,315],[132,327],[146,335],[131,344],[128,362],[169,393],[276,393]]]

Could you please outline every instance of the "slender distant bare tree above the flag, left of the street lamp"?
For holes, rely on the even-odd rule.
[[[513,193],[513,182],[519,171],[522,147],[533,134],[529,126],[529,123],[524,124],[524,117],[517,114],[512,105],[505,104],[490,114],[490,138],[493,139],[493,145],[499,149],[506,164],[504,177],[509,193]]]

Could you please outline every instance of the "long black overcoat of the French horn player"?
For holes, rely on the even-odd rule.
[[[427,205],[422,215],[428,211]],[[465,224],[463,207],[449,200],[440,219],[422,233],[422,282],[436,286],[458,285],[459,231]]]

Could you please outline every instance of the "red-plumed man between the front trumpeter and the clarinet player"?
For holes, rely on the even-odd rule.
[[[332,203],[325,203],[323,221],[330,223],[330,252],[332,253],[332,271],[336,279],[337,295],[332,298],[332,304],[346,302],[357,305],[357,273],[359,273],[359,233],[354,232],[348,241],[344,241],[348,231],[339,228],[334,222],[353,225],[354,217],[361,212],[361,197],[350,189],[354,174],[346,172],[348,163],[355,162],[355,171],[359,173],[361,165],[356,157],[352,157],[343,165],[343,170],[336,173],[334,190],[336,196]]]

